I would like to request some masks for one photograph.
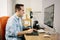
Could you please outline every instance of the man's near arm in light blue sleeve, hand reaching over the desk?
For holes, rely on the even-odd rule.
[[[32,33],[32,32],[33,32],[33,29],[19,32],[15,21],[9,21],[6,25],[6,35],[8,36],[21,36],[26,33]]]

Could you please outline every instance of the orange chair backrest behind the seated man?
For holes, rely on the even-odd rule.
[[[0,35],[1,40],[5,40],[5,27],[8,20],[8,16],[0,17]]]

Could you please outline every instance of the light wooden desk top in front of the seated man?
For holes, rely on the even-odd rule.
[[[38,36],[25,35],[26,40],[57,40],[56,34],[51,34],[49,37],[44,37],[45,33],[41,33]]]

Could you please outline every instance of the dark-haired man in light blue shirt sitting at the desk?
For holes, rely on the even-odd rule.
[[[23,35],[26,33],[32,33],[33,29],[23,31],[22,16],[24,14],[24,5],[15,5],[15,14],[10,17],[6,24],[6,40],[23,40]]]

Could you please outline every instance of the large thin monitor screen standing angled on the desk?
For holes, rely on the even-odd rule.
[[[44,24],[53,28],[54,23],[54,4],[44,10]]]

